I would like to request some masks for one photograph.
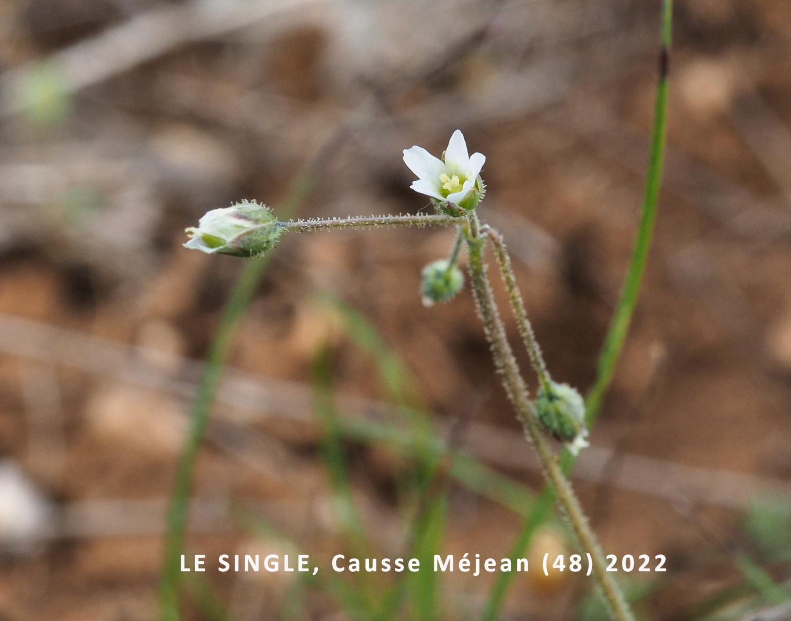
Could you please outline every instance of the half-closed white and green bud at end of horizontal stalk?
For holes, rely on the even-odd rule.
[[[260,257],[274,248],[285,229],[267,205],[244,201],[223,209],[212,209],[187,228],[185,248],[206,254]]]

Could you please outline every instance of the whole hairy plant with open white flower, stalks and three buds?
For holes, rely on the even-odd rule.
[[[450,250],[449,258],[430,263],[423,270],[421,289],[424,303],[431,305],[446,302],[460,291],[464,279],[457,264],[460,248],[466,246],[472,293],[505,392],[524,427],[525,435],[536,448],[544,475],[554,487],[558,504],[568,517],[574,535],[581,548],[592,556],[596,578],[615,618],[631,619],[631,613],[618,585],[606,571],[607,565],[596,536],[590,529],[549,442],[549,436],[565,442],[573,454],[587,446],[584,401],[577,390],[554,382],[551,378],[524,310],[505,243],[498,231],[479,220],[477,209],[482,205],[486,191],[480,171],[486,158],[481,153],[469,156],[464,135],[456,130],[441,158],[431,155],[426,149],[413,146],[404,150],[403,160],[418,175],[412,189],[429,195],[437,214],[280,221],[266,205],[243,201],[228,208],[213,209],[202,216],[197,228],[187,229],[190,239],[184,246],[207,254],[260,258],[271,252],[282,237],[291,231],[334,231],[339,228],[370,229],[388,226],[456,227],[458,241]],[[500,310],[494,301],[486,273],[484,250],[490,240],[496,250],[495,257],[509,292],[513,314],[517,318],[533,369],[539,378],[540,390],[535,401],[528,395],[517,360],[505,336]]]

